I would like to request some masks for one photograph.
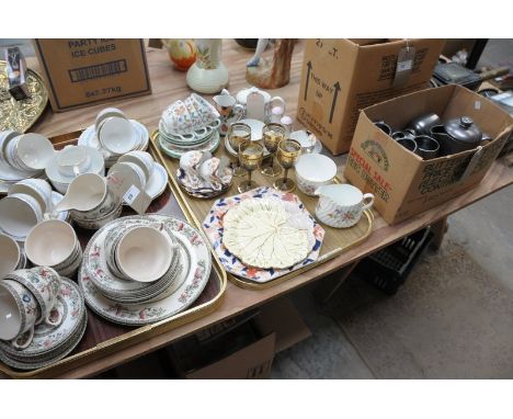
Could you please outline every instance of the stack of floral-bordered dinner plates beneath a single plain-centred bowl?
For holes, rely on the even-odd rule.
[[[163,224],[178,245],[167,274],[150,283],[116,276],[107,263],[107,235],[156,223]],[[98,315],[122,325],[146,325],[173,316],[193,304],[208,282],[210,267],[206,240],[187,223],[163,215],[128,216],[111,222],[91,238],[83,253],[79,284],[86,303]]]

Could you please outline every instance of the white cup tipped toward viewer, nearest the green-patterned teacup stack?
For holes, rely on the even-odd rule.
[[[139,138],[132,122],[118,116],[103,121],[98,131],[98,139],[103,148],[116,155],[123,155],[137,148]]]

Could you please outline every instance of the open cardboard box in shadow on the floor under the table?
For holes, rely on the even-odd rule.
[[[213,326],[168,348],[183,378],[266,378],[274,354],[311,336],[288,298]]]

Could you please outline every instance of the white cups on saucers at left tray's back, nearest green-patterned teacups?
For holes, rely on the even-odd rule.
[[[146,150],[148,141],[148,129],[141,123],[128,120],[116,107],[107,107],[98,114],[94,125],[80,135],[78,145],[99,150],[105,160],[105,167],[110,168],[126,152]]]

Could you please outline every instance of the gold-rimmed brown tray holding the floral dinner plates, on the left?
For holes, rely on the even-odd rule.
[[[76,144],[81,133],[82,131],[77,131],[53,137],[50,140],[56,149],[60,149],[66,145]],[[156,152],[157,149],[152,141],[149,144],[148,151],[157,161],[163,162],[161,161],[161,155]],[[185,208],[185,211],[182,211],[182,208]],[[195,226],[192,214],[186,210],[186,206],[181,201],[181,196],[174,193],[174,185],[170,181],[168,182],[166,191],[151,203],[147,213],[172,215]],[[124,210],[122,216],[132,214],[133,213],[128,210]],[[81,228],[76,228],[76,231],[82,248],[86,247],[94,233]],[[206,241],[208,242],[208,239],[206,239]],[[29,372],[12,370],[0,362],[0,375],[3,373],[12,378],[49,378],[213,313],[223,302],[227,285],[227,274],[212,247],[210,253],[213,254],[213,269],[208,283],[194,304],[184,312],[151,325],[127,327],[110,322],[88,308],[88,327],[86,329],[86,335],[78,347],[68,356],[49,366]],[[76,279],[73,278],[73,280]]]

